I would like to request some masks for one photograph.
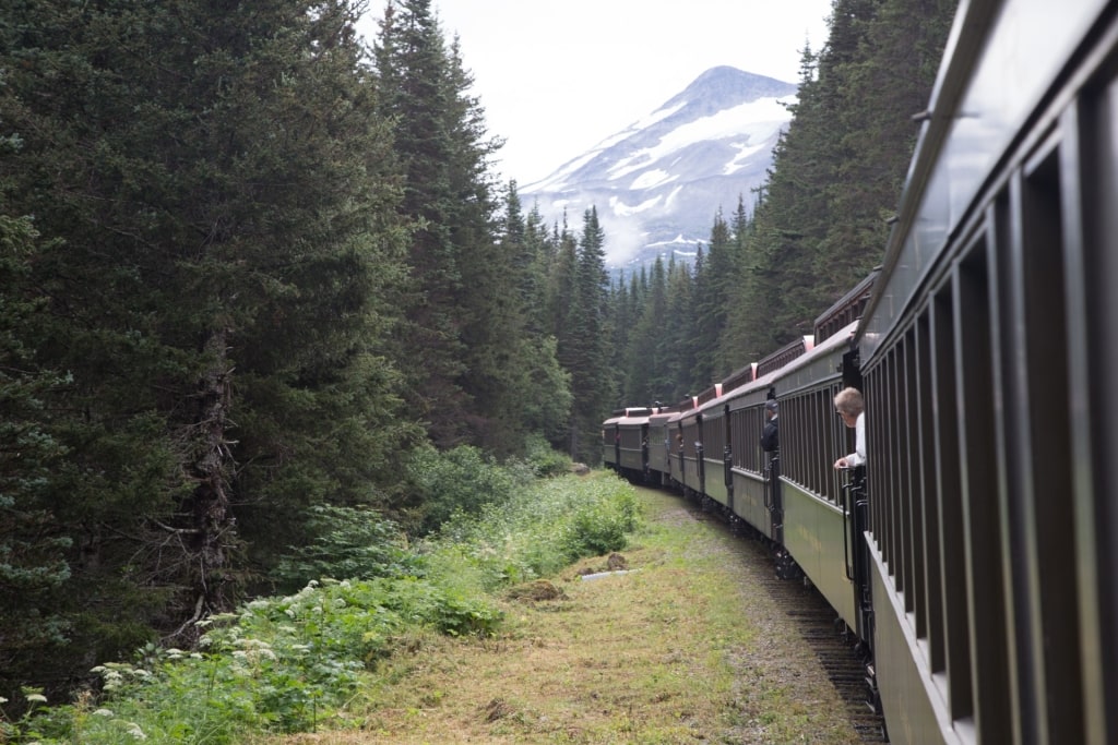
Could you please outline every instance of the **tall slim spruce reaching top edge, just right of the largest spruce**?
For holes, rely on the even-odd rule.
[[[459,172],[463,106],[442,29],[429,0],[388,3],[375,48],[378,107],[396,122],[395,155],[402,171],[400,214],[413,226],[410,284],[404,299],[407,323],[399,327],[396,355],[404,361],[409,408],[442,447],[468,440],[470,395],[464,328],[472,322],[463,306],[463,235],[476,226],[456,226],[459,190],[470,180]],[[468,163],[467,163],[468,168]],[[484,211],[484,208],[482,208]]]

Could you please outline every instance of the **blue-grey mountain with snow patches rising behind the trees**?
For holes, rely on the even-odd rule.
[[[550,176],[520,188],[550,225],[574,230],[596,206],[612,267],[710,241],[714,213],[732,219],[739,197],[752,209],[773,147],[792,118],[797,86],[732,67],[713,67],[663,106],[603,140]]]

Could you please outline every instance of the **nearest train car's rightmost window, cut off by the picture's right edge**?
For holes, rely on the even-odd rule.
[[[1069,411],[1073,504],[1079,519],[1076,553],[1086,618],[1083,632],[1084,711],[1090,742],[1108,742],[1118,732],[1118,711],[1109,691],[1118,670],[1118,80],[1115,55],[1110,78],[1098,84],[1080,111],[1077,146],[1063,154],[1072,183],[1063,184],[1076,209],[1065,214],[1068,250]],[[1067,168],[1067,166],[1065,166]],[[1068,173],[1069,171],[1065,171]],[[1078,180],[1078,183],[1077,183]],[[1079,187],[1076,199],[1076,187]],[[1088,742],[1084,738],[1084,742]]]

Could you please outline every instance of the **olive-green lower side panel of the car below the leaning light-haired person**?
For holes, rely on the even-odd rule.
[[[858,627],[854,585],[846,576],[850,541],[839,505],[819,499],[785,480],[784,545],[850,628]]]

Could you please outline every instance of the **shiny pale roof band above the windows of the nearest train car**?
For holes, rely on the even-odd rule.
[[[881,279],[859,329],[862,362],[927,290],[947,238],[969,218],[968,206],[1041,102],[1084,29],[1110,2],[1080,0],[1065,22],[1036,22],[1026,3],[964,2],[925,112]],[[1032,7],[1049,7],[1041,0]],[[1052,6],[1054,7],[1054,6]],[[1032,22],[1025,22],[1032,21]],[[1006,85],[1012,80],[1012,85]],[[965,114],[964,114],[965,112]],[[964,166],[965,164],[965,166]]]

